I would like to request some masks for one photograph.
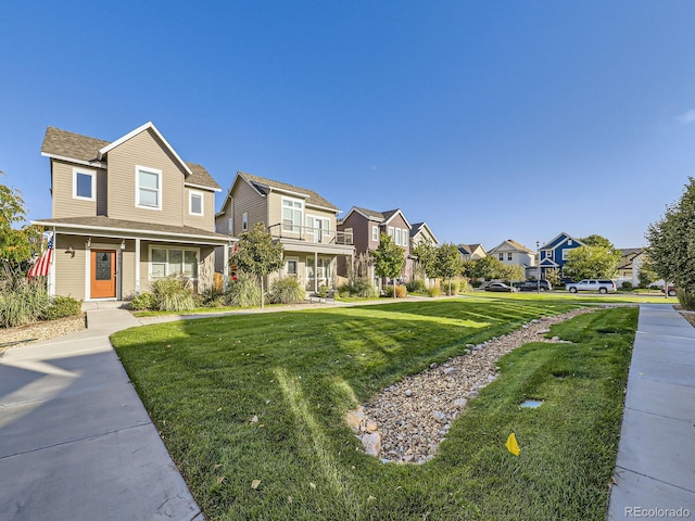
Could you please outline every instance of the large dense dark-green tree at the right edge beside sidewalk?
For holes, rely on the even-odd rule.
[[[695,294],[695,179],[690,177],[681,199],[666,207],[666,214],[647,228],[645,234],[649,267],[684,295]]]

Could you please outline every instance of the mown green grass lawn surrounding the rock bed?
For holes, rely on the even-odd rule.
[[[549,333],[574,343],[505,356],[428,463],[383,465],[343,422],[404,374],[573,306],[324,308],[161,323],[112,341],[208,519],[603,520],[636,308],[582,315]],[[520,409],[525,397],[545,402]],[[518,458],[504,446],[510,432]]]

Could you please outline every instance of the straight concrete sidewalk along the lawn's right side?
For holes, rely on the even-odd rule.
[[[640,306],[608,519],[695,518],[695,328]]]

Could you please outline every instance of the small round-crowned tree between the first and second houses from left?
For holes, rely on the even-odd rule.
[[[273,236],[258,223],[251,231],[244,231],[239,238],[237,253],[231,264],[247,274],[254,275],[261,281],[261,308],[265,301],[263,280],[268,274],[282,267],[282,244],[273,242]]]

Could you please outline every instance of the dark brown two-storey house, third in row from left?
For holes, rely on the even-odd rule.
[[[426,233],[428,228],[424,229],[422,233]],[[412,258],[408,258],[410,256],[410,230],[413,227],[401,209],[375,212],[353,206],[345,217],[338,223],[338,229],[354,238],[355,253],[357,255],[368,255],[374,252],[379,247],[381,233],[387,233],[404,251],[406,266],[401,278],[409,280],[413,277],[414,263]],[[341,263],[339,269],[341,276],[348,277],[346,264]],[[369,278],[377,288],[381,288],[384,282],[384,280],[376,276],[374,267],[369,268]]]

